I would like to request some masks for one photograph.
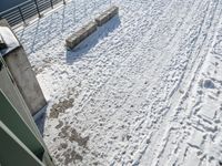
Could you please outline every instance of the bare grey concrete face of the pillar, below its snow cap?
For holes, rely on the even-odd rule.
[[[36,114],[47,105],[47,101],[23,48],[17,48],[3,59],[31,114]]]

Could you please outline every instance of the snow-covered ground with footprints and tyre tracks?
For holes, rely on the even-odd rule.
[[[64,40],[120,13],[73,51]],[[222,1],[72,0],[17,30],[58,165],[222,165]]]

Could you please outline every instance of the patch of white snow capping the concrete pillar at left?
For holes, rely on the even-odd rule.
[[[13,32],[8,27],[0,27],[0,37],[3,39],[3,42],[7,44],[7,49],[2,50],[2,55],[14,50],[20,45],[19,41],[14,37]]]

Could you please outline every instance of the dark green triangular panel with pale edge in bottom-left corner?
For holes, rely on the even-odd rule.
[[[43,166],[27,146],[0,121],[0,165]]]

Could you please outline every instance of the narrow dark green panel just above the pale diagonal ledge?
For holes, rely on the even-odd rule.
[[[18,111],[12,106],[0,90],[0,121],[31,151],[42,159],[44,148],[36,135],[22,120]],[[1,139],[1,137],[0,137]],[[0,147],[1,148],[1,147]]]

